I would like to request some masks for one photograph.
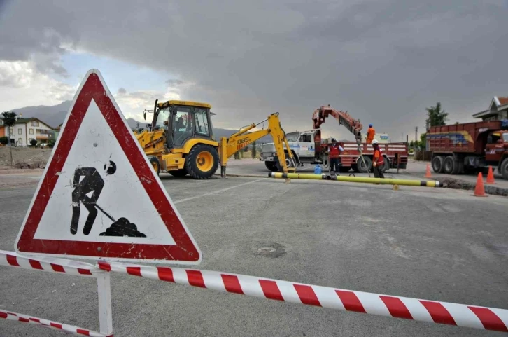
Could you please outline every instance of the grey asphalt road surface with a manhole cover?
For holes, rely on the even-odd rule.
[[[204,253],[198,268],[508,309],[507,198],[337,181],[162,181]],[[13,251],[35,187],[0,188],[0,249]],[[98,329],[94,280],[0,268],[0,308]],[[111,287],[115,337],[505,336],[119,274]],[[1,319],[0,336],[66,334]]]

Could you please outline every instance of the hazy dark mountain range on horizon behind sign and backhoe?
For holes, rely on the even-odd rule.
[[[54,106],[25,106],[24,108],[12,109],[9,111],[14,111],[18,117],[23,118],[31,118],[35,117],[48,124],[51,128],[57,128],[58,125],[64,123],[65,116],[71,109],[71,101],[64,101],[60,104]],[[127,123],[129,127],[133,130],[138,128],[145,128],[147,122],[146,121],[136,121],[134,118],[127,118]],[[238,129],[221,129],[221,128],[213,128],[213,135],[216,139],[220,139],[220,137],[230,137],[234,132],[237,132]],[[257,140],[257,143],[267,143],[273,142],[270,136],[262,137]]]

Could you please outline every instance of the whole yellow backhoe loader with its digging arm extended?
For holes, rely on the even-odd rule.
[[[220,164],[221,177],[225,177],[227,159],[266,135],[274,139],[279,170],[285,173],[295,171],[292,153],[283,147],[285,144],[286,149],[290,148],[278,113],[241,128],[229,138],[222,137],[219,143],[213,137],[211,116],[214,114],[210,109],[210,104],[200,102],[155,101],[149,130],[135,132],[135,136],[157,174],[168,172],[174,177],[189,174],[193,179],[209,179]],[[146,112],[143,111],[145,119]],[[268,121],[267,130],[248,132],[265,121]],[[286,155],[293,167],[288,167]]]

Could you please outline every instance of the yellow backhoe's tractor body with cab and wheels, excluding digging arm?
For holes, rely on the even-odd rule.
[[[150,130],[136,138],[157,174],[208,179],[216,172],[219,144],[213,139],[210,109],[206,103],[155,101]]]

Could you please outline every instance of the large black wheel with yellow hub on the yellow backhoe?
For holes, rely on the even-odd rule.
[[[213,146],[197,144],[185,157],[185,170],[192,179],[209,179],[219,167],[219,154]]]

